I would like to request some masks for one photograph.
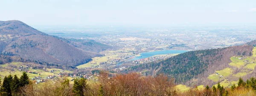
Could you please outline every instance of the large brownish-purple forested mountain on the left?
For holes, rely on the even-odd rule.
[[[18,20],[0,21],[1,57],[12,56],[23,62],[67,67],[89,62],[93,56],[102,56],[97,52],[107,48],[111,47],[95,41],[51,36]],[[2,59],[1,62],[6,61]]]

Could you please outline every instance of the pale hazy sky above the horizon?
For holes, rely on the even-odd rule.
[[[256,23],[256,0],[1,0],[0,20],[29,25]]]

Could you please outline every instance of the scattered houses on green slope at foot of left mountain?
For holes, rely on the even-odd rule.
[[[30,63],[26,65],[26,63],[23,63],[23,62],[12,62],[10,64],[0,65],[0,67],[2,68],[0,70],[0,73],[1,73],[0,77],[4,77],[2,76],[3,74],[9,74],[6,72],[8,72],[7,70],[9,70],[10,68],[12,68],[12,71],[11,71],[13,72],[12,74],[18,74],[25,71],[28,74],[29,79],[31,79],[35,84],[39,84],[41,82],[46,82],[50,80],[55,81],[58,79],[70,79],[70,81],[73,81],[75,78],[85,78],[87,80],[90,80],[94,77],[99,76],[99,73],[97,72],[79,74],[73,71],[62,70],[58,68],[32,67]],[[5,73],[2,73],[2,72],[5,72]]]

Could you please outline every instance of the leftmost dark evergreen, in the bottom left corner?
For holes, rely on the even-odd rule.
[[[1,87],[1,96],[12,96],[12,90],[10,88],[10,82],[9,82],[10,77],[9,78],[8,77],[5,76],[3,79],[3,85]]]

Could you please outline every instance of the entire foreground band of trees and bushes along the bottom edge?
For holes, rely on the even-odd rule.
[[[113,74],[112,74],[113,75]],[[96,80],[97,79],[97,80]],[[26,72],[18,78],[17,75],[6,76],[0,83],[1,96],[243,96],[248,93],[256,95],[256,79],[254,77],[237,85],[224,88],[221,83],[204,89],[195,88],[180,92],[175,87],[174,79],[159,74],[141,76],[139,73],[111,74],[100,72],[96,79],[76,78],[73,83],[69,79],[47,81],[35,84],[29,80]]]

